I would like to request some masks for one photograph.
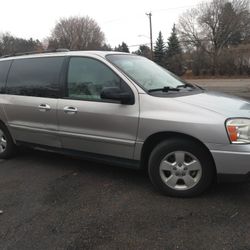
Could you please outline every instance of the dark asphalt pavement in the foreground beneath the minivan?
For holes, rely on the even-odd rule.
[[[0,161],[1,250],[247,250],[249,208],[250,184],[180,199],[140,171],[28,149]]]

